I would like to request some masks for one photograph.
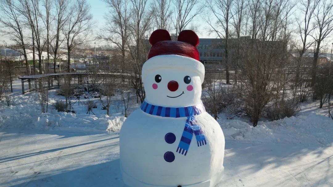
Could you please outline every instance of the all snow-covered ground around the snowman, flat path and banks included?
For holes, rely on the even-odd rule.
[[[119,95],[110,116],[99,104],[96,116],[86,114],[78,103],[76,114],[52,106],[42,114],[36,93],[21,95],[15,88],[12,105],[0,103],[1,187],[124,186],[118,130],[126,118]],[[51,90],[51,103],[64,99],[55,92]],[[131,103],[131,111],[139,106]],[[225,173],[217,187],[332,187],[333,120],[318,105],[302,104],[298,116],[261,121],[255,128],[246,119],[221,114]]]

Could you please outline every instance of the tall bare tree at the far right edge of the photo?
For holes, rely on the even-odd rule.
[[[314,33],[314,40],[316,42],[315,52],[313,54],[312,72],[311,72],[311,86],[316,83],[317,62],[319,57],[319,50],[321,43],[333,31],[333,2],[331,0],[318,0],[318,5],[314,13],[315,24],[317,29]]]

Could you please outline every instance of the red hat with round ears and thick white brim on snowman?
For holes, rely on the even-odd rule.
[[[192,71],[200,77],[201,83],[205,75],[205,67],[199,61],[198,36],[191,30],[179,33],[178,41],[171,41],[166,30],[159,29],[149,38],[152,47],[148,60],[142,66],[142,80],[145,82],[149,72],[154,69],[178,69]]]

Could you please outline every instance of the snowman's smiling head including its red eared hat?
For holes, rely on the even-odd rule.
[[[196,49],[198,36],[184,30],[178,41],[171,41],[169,33],[159,29],[149,41],[152,48],[142,67],[147,102],[166,107],[199,104],[204,66]]]

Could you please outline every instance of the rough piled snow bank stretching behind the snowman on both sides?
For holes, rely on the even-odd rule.
[[[96,115],[86,114],[86,107],[78,105],[78,102],[74,105],[76,114],[57,112],[52,109],[52,103],[63,100],[64,97],[56,96],[56,90],[50,92],[49,113],[41,113],[35,92],[25,95],[14,94],[9,107],[5,103],[0,103],[0,129],[33,128],[110,133],[119,131],[126,119],[119,113],[121,111],[117,102],[111,106],[111,116],[105,115],[106,111],[101,110],[102,106],[98,104],[99,98],[92,99],[98,105],[98,108],[94,109]],[[117,99],[119,99],[117,96],[113,98],[115,101]],[[82,99],[82,103],[87,100]],[[297,117],[259,122],[255,128],[241,118],[226,119],[225,114],[221,114],[221,118],[217,121],[223,129],[226,140],[320,146],[333,143],[333,120],[323,116],[325,112],[320,112],[315,103],[304,105],[304,110]],[[135,110],[139,104],[134,102],[131,107],[131,110]],[[305,110],[307,108],[309,109]]]

